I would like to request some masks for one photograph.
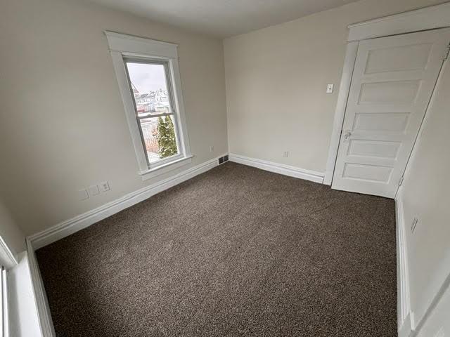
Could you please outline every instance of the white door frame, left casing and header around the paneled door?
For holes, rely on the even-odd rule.
[[[331,185],[333,181],[342,124],[344,123],[359,41],[444,27],[450,27],[450,2],[365,22],[358,22],[348,26],[347,50],[345,52],[344,67],[340,79],[338,103],[336,103],[335,108],[325,178],[323,178],[324,184]]]

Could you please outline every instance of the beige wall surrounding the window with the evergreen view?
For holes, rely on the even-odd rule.
[[[155,181],[137,174],[105,29],[179,44],[192,165],[227,152],[219,39],[82,1],[4,1],[0,194],[25,234]],[[78,201],[77,190],[103,180],[110,192]]]

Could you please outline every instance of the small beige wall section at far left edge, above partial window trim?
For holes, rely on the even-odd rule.
[[[4,202],[0,199],[0,237],[4,239],[8,248],[17,256],[25,251],[25,234],[13,220],[11,213],[6,209]]]

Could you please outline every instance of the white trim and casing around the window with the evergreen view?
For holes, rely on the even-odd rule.
[[[179,166],[183,166],[191,162],[193,157],[191,148],[189,147],[188,129],[186,126],[186,117],[184,112],[183,95],[181,94],[181,77],[178,65],[177,45],[168,42],[144,39],[131,35],[118,34],[114,32],[105,32],[110,48],[111,58],[117,82],[119,84],[120,95],[124,103],[125,115],[131,139],[133,140],[134,152],[139,165],[139,174],[143,180],[159,176],[162,173],[172,171]],[[172,160],[156,163],[154,166],[148,166],[146,154],[143,149],[141,133],[134,111],[134,102],[129,90],[127,72],[123,58],[139,57],[139,58],[160,58],[169,63],[169,73],[172,80],[172,90],[174,91],[174,117],[178,125],[179,132],[179,151],[180,154],[174,156]]]

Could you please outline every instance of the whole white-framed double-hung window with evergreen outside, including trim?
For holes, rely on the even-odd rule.
[[[142,178],[188,164],[176,45],[105,34]]]

